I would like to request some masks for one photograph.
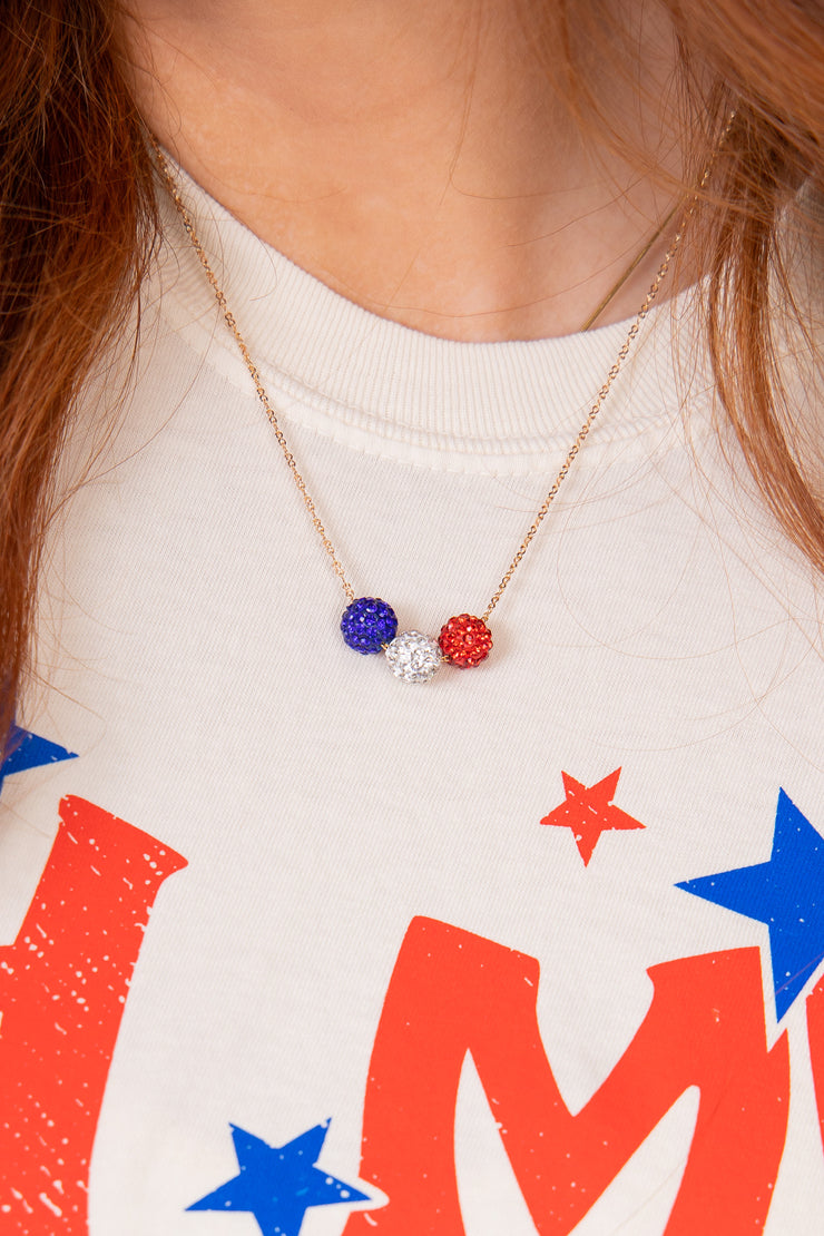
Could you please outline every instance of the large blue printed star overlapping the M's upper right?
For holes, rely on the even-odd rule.
[[[780,790],[768,863],[684,880],[677,887],[767,925],[781,1020],[824,960],[824,837]]]

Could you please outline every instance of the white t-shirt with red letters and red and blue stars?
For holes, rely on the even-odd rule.
[[[628,324],[425,336],[184,188],[356,595],[483,612]],[[166,230],[2,785],[0,1229],[818,1236],[824,598],[724,457],[697,298],[645,323],[489,659],[409,685],[343,644]]]

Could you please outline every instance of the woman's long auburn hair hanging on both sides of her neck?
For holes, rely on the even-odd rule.
[[[0,15],[0,756],[31,666],[61,449],[95,360],[133,320],[158,230],[116,2],[4,0]],[[813,347],[781,236],[799,185],[824,188],[824,9],[813,0],[660,2],[679,43],[688,174],[735,108],[699,236],[720,400],[765,502],[824,570],[824,508],[776,347],[776,315],[793,313]],[[609,131],[594,90],[581,84],[598,74],[582,73],[581,61],[595,63],[609,42],[620,67],[614,0],[521,4],[539,53],[553,48],[556,75],[563,49],[571,103]],[[635,72],[629,42],[624,72]]]

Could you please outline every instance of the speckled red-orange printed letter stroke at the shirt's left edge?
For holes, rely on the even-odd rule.
[[[91,1146],[157,891],[187,860],[83,798],[0,949],[0,1215],[16,1236],[85,1236]]]

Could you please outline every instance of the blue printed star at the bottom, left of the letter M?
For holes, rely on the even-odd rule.
[[[263,1236],[298,1236],[310,1206],[369,1200],[366,1193],[314,1166],[327,1120],[285,1146],[268,1146],[237,1125],[230,1127],[240,1172],[188,1210],[247,1210]]]

